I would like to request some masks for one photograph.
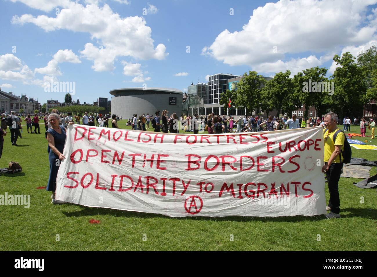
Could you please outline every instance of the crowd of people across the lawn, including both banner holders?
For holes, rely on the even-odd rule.
[[[227,117],[225,115],[215,115],[215,113],[210,113],[206,116],[198,116],[195,114],[193,116],[183,115],[179,119],[176,113],[172,113],[169,116],[169,111],[163,110],[160,116],[160,111],[157,110],[155,115],[149,115],[149,113],[138,116],[133,115],[132,119],[129,119],[126,125],[132,126],[134,130],[147,130],[150,129],[150,125],[155,132],[163,133],[179,133],[179,130],[193,131],[197,134],[199,130],[206,130],[209,134],[219,134],[219,133],[241,133],[241,132],[261,132],[261,131],[273,131],[282,129],[298,129],[303,127],[314,127],[321,126],[324,129],[324,142],[325,142],[325,164],[322,167],[322,171],[326,174],[328,180],[328,187],[330,193],[330,199],[326,210],[330,211],[326,214],[327,217],[340,217],[340,200],[338,191],[338,181],[340,178],[340,172],[343,167],[343,159],[340,153],[343,153],[345,145],[345,134],[340,132],[336,136],[336,140],[333,141],[334,133],[339,130],[337,129],[338,117],[335,113],[327,113],[323,116],[322,120],[319,117],[311,117],[307,121],[303,118],[298,119],[296,115],[292,118],[282,116],[276,118],[274,116],[268,116],[264,119],[261,116],[239,116],[236,120],[233,116]],[[86,112],[82,118],[83,125],[108,127],[109,120],[111,120],[112,128],[119,128],[118,121],[121,120],[122,116],[98,114],[96,117],[94,115],[88,115]],[[8,120],[9,119],[9,120]],[[47,190],[52,192],[52,203],[59,204],[60,201],[55,199],[55,188],[56,188],[56,177],[60,163],[56,162],[58,160],[63,160],[65,157],[63,155],[63,148],[66,139],[66,127],[69,124],[77,123],[80,124],[80,116],[72,116],[72,113],[67,113],[64,115],[59,113],[58,110],[52,110],[52,113],[44,113],[43,115],[38,115],[35,113],[34,117],[27,115],[24,118],[26,121],[28,133],[40,134],[40,123],[43,119],[44,127],[46,129],[45,135],[48,141],[48,153],[50,162],[50,174],[49,181],[47,185]],[[12,124],[7,124],[12,122]],[[11,142],[12,145],[18,146],[18,137],[22,138],[22,119],[20,115],[16,115],[14,111],[11,115],[6,117],[5,114],[2,115],[1,128],[0,128],[0,158],[2,155],[4,136],[6,136],[6,129],[9,127],[11,132]],[[351,119],[345,117],[343,119],[343,130],[349,130],[349,125],[351,124]],[[357,124],[357,118],[354,119],[354,124]],[[179,126],[181,125],[181,127]],[[365,136],[366,126],[372,132],[372,138],[374,137],[375,121],[370,120],[370,123],[366,122],[365,118],[360,120],[360,130],[362,136]],[[34,127],[34,131],[32,130]],[[235,130],[234,130],[235,129]]]

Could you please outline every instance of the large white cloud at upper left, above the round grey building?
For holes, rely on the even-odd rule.
[[[12,17],[12,23],[32,23],[46,32],[63,29],[89,33],[92,40],[98,41],[99,45],[88,42],[80,53],[84,58],[93,61],[92,68],[95,71],[113,70],[117,57],[162,60],[169,54],[164,44],[154,46],[152,29],[146,25],[143,17],[122,18],[107,4],[98,6],[96,1],[89,2],[90,4],[83,6],[78,2],[69,1],[56,17],[15,15]],[[35,6],[29,1],[24,3]]]

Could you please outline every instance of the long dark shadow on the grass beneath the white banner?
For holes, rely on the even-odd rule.
[[[65,204],[67,205],[67,204]],[[76,204],[72,204],[76,205]],[[80,206],[80,205],[77,205]],[[325,216],[279,216],[279,217],[245,217],[245,216],[224,216],[224,217],[169,217],[162,214],[153,213],[141,213],[136,211],[123,211],[114,210],[110,208],[91,208],[80,206],[80,211],[66,212],[62,211],[67,217],[75,216],[97,216],[97,215],[113,215],[116,217],[139,217],[139,218],[172,218],[176,220],[210,220],[210,221],[236,221],[236,222],[248,222],[248,221],[260,221],[260,222],[301,222],[301,221],[319,221],[326,219]],[[356,209],[362,210],[362,209]]]

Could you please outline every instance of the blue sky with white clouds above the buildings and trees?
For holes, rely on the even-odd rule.
[[[334,54],[375,44],[376,2],[0,0],[0,86],[45,103],[65,94],[45,92],[46,80],[75,82],[72,99],[92,103],[143,84],[186,90],[220,72],[331,75]]]

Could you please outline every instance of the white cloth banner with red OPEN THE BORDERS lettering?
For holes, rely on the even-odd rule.
[[[185,135],[69,125],[56,198],[167,216],[325,211],[323,129]]]

